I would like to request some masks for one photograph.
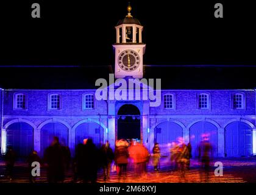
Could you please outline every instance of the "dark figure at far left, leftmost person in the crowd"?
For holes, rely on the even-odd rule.
[[[15,163],[16,154],[13,151],[12,146],[7,147],[7,152],[5,154],[5,166],[7,171],[7,177],[12,181],[13,179],[13,167]]]

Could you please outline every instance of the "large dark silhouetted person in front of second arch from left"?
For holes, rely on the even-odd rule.
[[[63,149],[62,146],[60,146],[58,137],[54,137],[51,146],[46,149],[44,153],[44,162],[48,167],[48,182],[64,182],[65,154],[63,154]]]

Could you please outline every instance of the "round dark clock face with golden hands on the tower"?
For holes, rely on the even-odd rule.
[[[135,71],[140,65],[140,55],[132,49],[124,50],[118,56],[118,65],[124,71]]]

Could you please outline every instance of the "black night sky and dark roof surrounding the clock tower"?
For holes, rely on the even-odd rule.
[[[128,1],[37,1],[40,19],[30,16],[34,2],[0,2],[0,87],[86,88],[113,71],[114,26]],[[255,88],[252,2],[130,2],[144,26],[145,77],[163,79],[165,88]],[[216,2],[224,18],[214,17]],[[41,68],[14,68],[23,65]]]

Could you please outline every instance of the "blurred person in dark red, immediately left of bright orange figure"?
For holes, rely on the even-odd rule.
[[[121,179],[122,172],[124,174],[124,178],[126,178],[127,164],[129,158],[129,152],[127,150],[128,145],[129,144],[126,140],[121,139],[116,141],[115,162],[118,179]]]

